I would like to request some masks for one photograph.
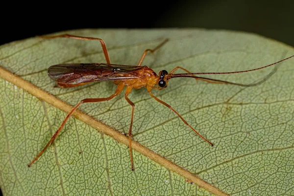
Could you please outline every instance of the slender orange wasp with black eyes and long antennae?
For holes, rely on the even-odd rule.
[[[232,74],[232,73],[245,73],[245,72],[252,72],[260,69],[264,69],[266,67],[270,67],[272,65],[275,65],[277,63],[280,63],[282,61],[285,61],[289,58],[294,57],[290,56],[288,58],[285,58],[283,60],[280,60],[278,62],[272,63],[270,65],[251,69],[251,70],[245,70],[245,71],[237,71],[237,72],[219,72],[219,73],[191,73],[188,70],[182,68],[182,67],[175,67],[170,73],[168,73],[165,70],[162,70],[157,75],[152,69],[148,68],[147,66],[142,66],[142,63],[144,61],[144,58],[147,54],[147,52],[153,53],[154,51],[161,48],[163,45],[165,45],[168,42],[168,39],[166,39],[164,42],[162,42],[160,45],[158,45],[154,49],[146,49],[142,55],[142,57],[139,60],[139,63],[137,66],[128,66],[128,65],[115,65],[111,64],[110,58],[108,55],[108,51],[106,48],[106,45],[104,41],[100,38],[91,38],[91,37],[80,37],[80,36],[74,36],[69,34],[62,34],[57,36],[48,36],[43,37],[45,39],[53,39],[53,38],[60,38],[60,37],[66,37],[66,38],[73,38],[73,39],[80,39],[80,40],[98,40],[101,44],[106,63],[84,63],[84,64],[60,64],[60,65],[53,65],[49,67],[48,74],[49,77],[57,82],[57,84],[60,87],[68,88],[68,87],[76,87],[80,85],[87,84],[89,82],[94,81],[113,81],[117,86],[117,89],[115,93],[107,98],[85,98],[82,99],[78,104],[76,104],[73,109],[67,114],[57,131],[54,133],[54,135],[49,140],[48,144],[44,147],[44,149],[32,160],[30,164],[28,164],[28,167],[30,167],[46,150],[46,148],[51,145],[58,134],[60,133],[61,129],[65,125],[65,123],[68,121],[70,116],[73,114],[73,112],[82,104],[82,103],[93,103],[93,102],[102,102],[102,101],[108,101],[116,96],[118,96],[125,88],[125,94],[124,98],[129,103],[130,106],[132,106],[132,113],[131,113],[131,122],[128,132],[128,139],[129,139],[129,154],[130,154],[130,160],[131,160],[131,169],[134,170],[134,162],[133,162],[133,156],[132,156],[132,125],[133,125],[133,118],[134,118],[134,108],[135,104],[128,98],[128,95],[131,93],[132,89],[140,89],[143,87],[147,88],[148,93],[152,98],[154,98],[156,101],[162,103],[163,105],[170,108],[187,126],[189,126],[200,138],[202,138],[205,142],[213,146],[213,144],[208,141],[206,138],[204,138],[202,135],[200,135],[189,123],[187,123],[184,118],[177,113],[169,104],[162,101],[161,99],[155,97],[151,90],[162,90],[167,87],[168,82],[170,79],[175,77],[191,77],[195,78],[196,80],[202,80],[205,82],[210,83],[218,83],[218,84],[230,84],[230,85],[238,85],[238,86],[253,86],[256,84],[238,84],[233,82],[228,82],[224,80],[218,80],[218,79],[211,79],[206,77],[199,77],[196,75],[200,74]],[[177,73],[174,72],[176,70],[182,70],[186,73]]]

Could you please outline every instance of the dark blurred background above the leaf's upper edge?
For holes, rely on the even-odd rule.
[[[77,28],[196,27],[253,32],[294,46],[294,0],[3,1],[0,19],[0,45]]]

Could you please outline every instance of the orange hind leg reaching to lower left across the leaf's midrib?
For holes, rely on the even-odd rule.
[[[114,98],[115,96],[119,95],[123,91],[123,87],[124,87],[124,84],[122,82],[122,83],[119,84],[116,92],[113,95],[109,96],[108,98],[86,98],[86,99],[81,100],[67,114],[67,116],[65,117],[65,119],[63,120],[63,122],[61,123],[61,125],[59,126],[59,128],[57,129],[57,131],[54,133],[54,135],[51,137],[51,139],[49,140],[48,144],[44,147],[44,149],[27,166],[30,167],[43,154],[43,152],[46,150],[46,148],[49,147],[49,145],[52,145],[52,143],[54,142],[55,138],[58,136],[58,134],[61,131],[61,129],[63,128],[63,126],[65,125],[65,123],[67,122],[67,120],[69,120],[69,118],[71,117],[71,115],[73,114],[73,112],[78,108],[78,106],[80,106],[82,103],[94,103],[94,102],[108,101],[108,100]]]

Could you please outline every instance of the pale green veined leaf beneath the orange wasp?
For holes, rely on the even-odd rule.
[[[156,73],[170,72],[177,66],[191,72],[241,71],[294,54],[293,48],[276,41],[231,31],[67,33],[104,39],[111,62],[123,65],[136,65],[145,49],[170,38],[144,61]],[[32,38],[0,47],[0,66],[21,77],[0,70],[5,78],[0,79],[0,187],[4,195],[221,194],[211,187],[229,195],[291,195],[294,59],[249,73],[207,75],[243,84],[262,81],[253,87],[172,78],[166,89],[153,91],[214,147],[142,88],[129,95],[135,103],[133,140],[143,146],[134,146],[135,171],[130,169],[129,149],[124,145],[127,137],[115,135],[115,130],[127,133],[130,124],[131,107],[123,93],[110,101],[86,103],[79,108],[111,128],[94,126],[78,114],[83,122],[71,118],[54,144],[28,168],[66,116],[61,110],[69,109],[56,106],[58,100],[49,94],[75,105],[83,98],[104,98],[114,93],[116,85],[112,82],[56,88],[47,75],[51,65],[90,62],[105,62],[99,42]],[[110,136],[104,134],[108,130]],[[212,186],[204,181],[195,181],[199,186],[186,182],[197,177]]]

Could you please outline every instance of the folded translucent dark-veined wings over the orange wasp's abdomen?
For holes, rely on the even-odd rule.
[[[138,78],[140,66],[102,63],[60,64],[48,69],[48,75],[58,84],[79,86],[93,81],[128,80]]]

